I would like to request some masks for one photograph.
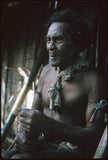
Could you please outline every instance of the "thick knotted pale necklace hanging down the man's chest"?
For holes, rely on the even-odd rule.
[[[85,61],[82,57],[75,62],[74,65],[68,66],[65,70],[60,72],[60,68],[57,67],[57,79],[52,83],[48,90],[50,99],[49,108],[57,111],[61,109],[61,81],[70,81],[74,77],[76,71],[80,71],[89,66],[89,62]]]

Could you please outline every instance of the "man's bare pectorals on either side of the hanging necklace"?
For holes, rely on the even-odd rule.
[[[42,87],[42,97],[46,106],[49,106],[49,95],[48,91],[50,86],[55,82],[56,75],[45,79],[45,82]],[[80,101],[83,101],[85,98],[85,88],[83,81],[71,80],[71,81],[61,81],[60,89],[62,105],[67,107],[78,106]]]

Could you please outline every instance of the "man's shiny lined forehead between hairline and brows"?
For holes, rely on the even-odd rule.
[[[67,26],[68,24],[64,22],[54,22],[50,25],[47,35],[63,34]]]

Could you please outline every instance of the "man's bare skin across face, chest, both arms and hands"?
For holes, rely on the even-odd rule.
[[[36,93],[32,110],[25,109],[20,113],[23,131],[16,136],[16,147],[21,152],[37,149],[40,132],[50,140],[59,138],[90,151],[96,147],[103,132],[104,109],[99,110],[90,122],[94,109],[87,106],[88,102],[105,99],[104,80],[97,71],[80,71],[70,82],[61,82],[62,113],[49,109],[48,89],[57,78],[57,67],[63,70],[77,59],[77,48],[70,42],[66,25],[53,23],[48,30],[46,46],[50,64],[43,68],[37,88],[42,97]]]

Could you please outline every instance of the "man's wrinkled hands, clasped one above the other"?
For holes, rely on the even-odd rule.
[[[43,123],[40,123],[42,122],[42,113],[34,109],[21,110],[20,122],[20,130],[15,138],[16,148],[23,153],[35,152],[38,146],[37,139],[43,128]]]

